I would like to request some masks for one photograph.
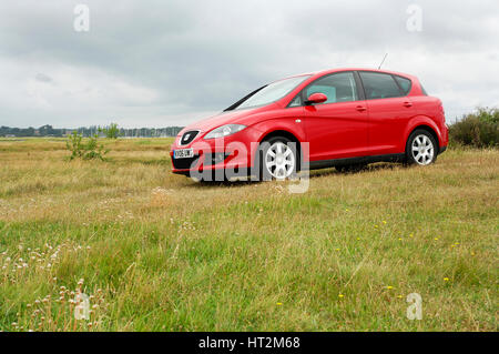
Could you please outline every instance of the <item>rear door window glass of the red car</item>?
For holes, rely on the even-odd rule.
[[[388,99],[404,95],[390,74],[379,72],[359,72],[366,100]]]

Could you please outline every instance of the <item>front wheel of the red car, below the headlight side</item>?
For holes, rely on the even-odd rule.
[[[296,148],[296,142],[284,136],[263,141],[258,149],[259,181],[296,176],[299,171],[299,154]]]

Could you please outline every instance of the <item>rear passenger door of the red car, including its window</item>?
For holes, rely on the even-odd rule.
[[[389,73],[359,71],[369,112],[369,154],[405,151],[404,133],[408,121],[417,115],[410,98],[410,80]]]

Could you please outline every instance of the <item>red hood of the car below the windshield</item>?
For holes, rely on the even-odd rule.
[[[179,133],[179,135],[183,134],[185,131],[189,130],[200,130],[201,132],[207,132],[211,131],[217,127],[224,125],[224,124],[248,124],[248,118],[253,117],[256,113],[259,113],[262,111],[268,111],[272,109],[273,104],[265,105],[265,107],[258,107],[254,109],[246,109],[246,110],[234,110],[234,111],[226,111],[221,112],[218,114],[215,114],[213,117],[203,119],[201,121],[197,121],[195,123],[189,124],[184,129],[182,129]]]

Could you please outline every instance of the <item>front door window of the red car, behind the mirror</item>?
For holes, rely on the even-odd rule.
[[[317,92],[324,93],[327,97],[327,101],[324,103],[358,100],[353,72],[335,73],[314,81],[305,89],[305,98]]]

